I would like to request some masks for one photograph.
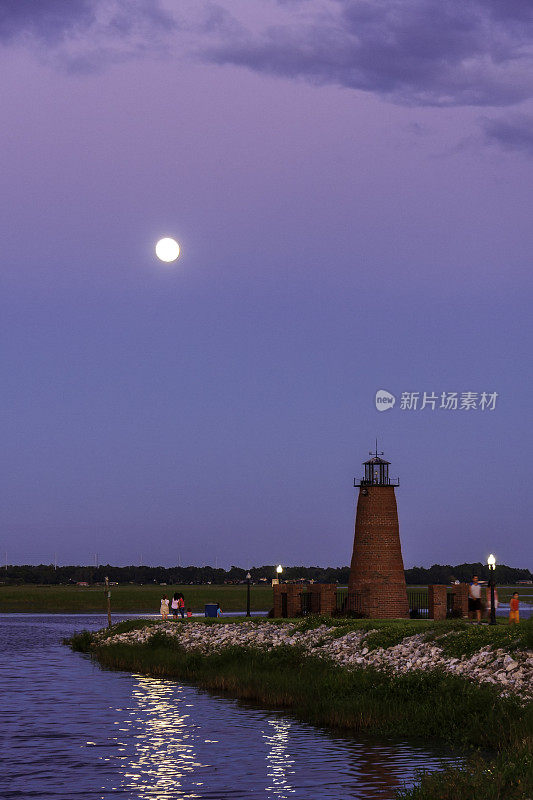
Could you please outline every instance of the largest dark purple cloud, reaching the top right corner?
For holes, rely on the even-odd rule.
[[[329,0],[300,7],[305,16],[294,24],[226,38],[208,58],[418,105],[503,106],[533,92],[531,0]]]

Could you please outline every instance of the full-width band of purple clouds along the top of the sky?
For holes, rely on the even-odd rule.
[[[147,52],[372,92],[421,106],[507,106],[533,95],[533,0],[256,0],[251,33],[222,2],[0,0],[0,42],[70,71]],[[264,27],[261,15],[281,24]],[[265,16],[263,14],[263,16]],[[39,47],[40,46],[40,47]]]

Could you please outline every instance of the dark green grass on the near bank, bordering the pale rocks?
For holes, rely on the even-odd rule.
[[[298,625],[305,630],[306,625],[319,622],[306,619]],[[502,644],[502,637],[508,636],[503,626],[496,630],[470,626],[476,630],[474,644],[465,624],[456,622],[432,626],[419,621],[378,625],[375,621],[344,620],[338,622],[338,632],[343,635],[343,631],[369,624],[376,632],[373,643],[369,637],[368,644],[376,647],[397,643],[423,628],[435,638],[446,631],[453,634],[448,638],[457,653],[472,652],[494,636],[494,646],[507,646]],[[138,630],[143,625],[142,621],[121,623],[109,634]],[[523,647],[530,633],[525,627],[512,635],[520,638],[514,640],[516,646]],[[440,740],[467,754],[463,766],[422,775],[414,789],[398,795],[404,800],[533,797],[531,705],[502,697],[501,689],[488,684],[437,670],[398,674],[368,667],[346,669],[294,646],[275,650],[226,647],[218,653],[201,654],[185,650],[179,640],[164,632],[145,644],[98,643],[89,633],[79,634],[69,643],[75,650],[91,653],[104,668],[188,681],[244,701],[284,708],[307,722],[337,730]]]

